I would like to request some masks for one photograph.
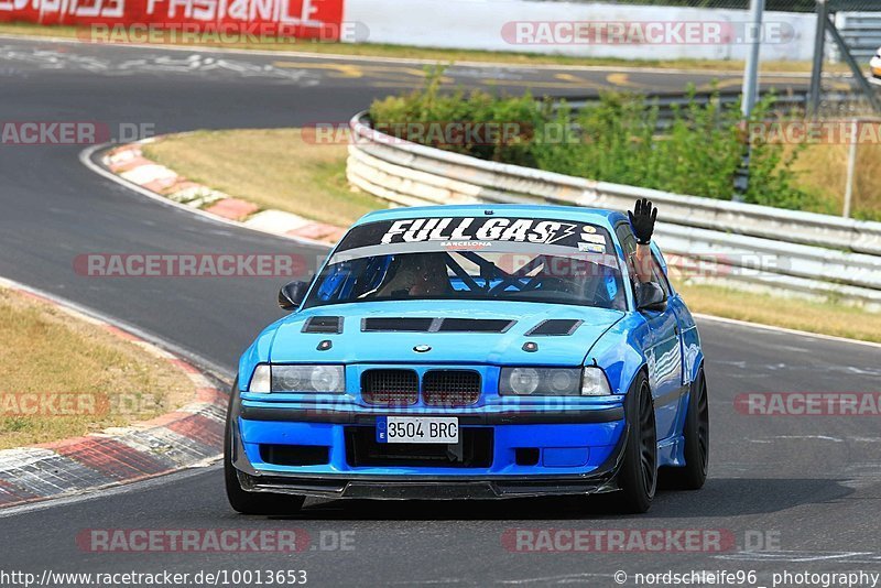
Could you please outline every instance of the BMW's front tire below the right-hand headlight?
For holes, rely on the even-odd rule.
[[[626,409],[628,438],[624,459],[618,472],[621,488],[619,507],[626,513],[646,512],[657,488],[657,429],[654,402],[644,372],[637,375],[628,392]]]

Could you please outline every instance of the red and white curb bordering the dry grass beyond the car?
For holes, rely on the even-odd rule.
[[[101,163],[113,174],[145,190],[254,230],[325,244],[337,242],[346,232],[341,227],[316,222],[291,213],[260,210],[253,203],[191,182],[174,170],[144,157],[141,146],[156,139],[161,138],[115,148],[101,157]]]

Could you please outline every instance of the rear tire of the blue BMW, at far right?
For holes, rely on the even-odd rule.
[[[662,481],[671,490],[699,490],[707,481],[709,466],[709,398],[703,366],[692,382],[683,437],[685,466],[662,468]]]

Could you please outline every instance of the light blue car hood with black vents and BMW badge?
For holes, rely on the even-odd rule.
[[[605,308],[515,302],[395,301],[329,305],[301,311],[279,323],[270,361],[580,366],[597,339],[623,316],[620,311]],[[335,317],[341,318],[338,334],[327,331],[328,324],[335,330],[338,320]],[[428,318],[435,319],[431,329],[393,330],[417,327],[416,319],[426,323]],[[446,319],[442,330],[437,330],[438,319]],[[527,335],[545,320],[556,322],[545,324],[545,330],[561,334]],[[318,323],[324,327],[316,328]],[[565,333],[576,324],[577,328]],[[318,344],[326,339],[333,346],[318,350]],[[525,351],[526,341],[537,344],[537,350]]]

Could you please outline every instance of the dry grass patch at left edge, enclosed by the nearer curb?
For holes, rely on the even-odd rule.
[[[186,373],[57,307],[0,288],[0,449],[152,418],[193,399]]]

